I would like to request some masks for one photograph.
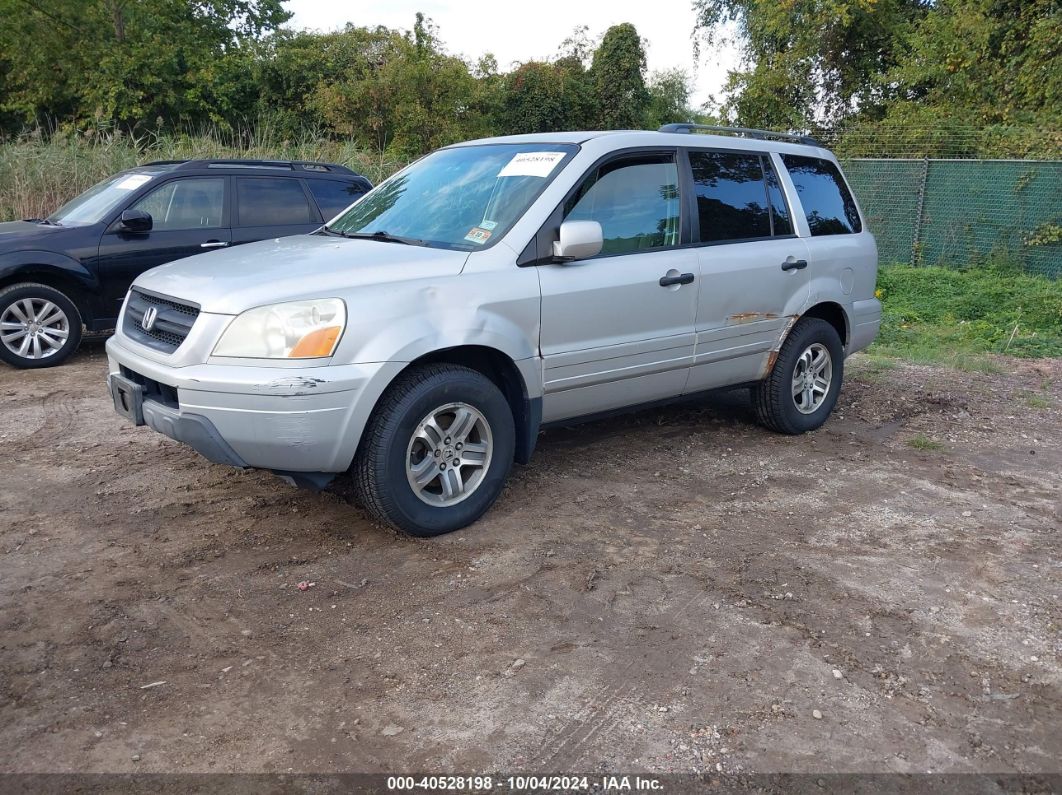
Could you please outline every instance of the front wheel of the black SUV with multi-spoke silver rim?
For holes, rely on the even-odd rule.
[[[22,282],[0,290],[0,359],[33,369],[63,364],[81,344],[81,312],[47,284]]]

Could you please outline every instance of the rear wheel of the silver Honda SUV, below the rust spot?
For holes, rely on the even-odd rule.
[[[818,317],[798,321],[767,378],[752,391],[759,421],[778,433],[822,426],[837,404],[844,379],[844,346],[837,330]]]

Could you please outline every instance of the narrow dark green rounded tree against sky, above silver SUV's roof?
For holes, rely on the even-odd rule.
[[[649,103],[646,51],[630,22],[605,31],[594,52],[590,72],[597,89],[598,124],[602,129],[640,127]]]

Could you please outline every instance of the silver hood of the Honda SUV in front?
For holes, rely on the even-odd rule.
[[[296,235],[223,248],[171,262],[134,284],[193,301],[204,312],[239,314],[301,298],[344,297],[352,289],[456,276],[468,252]]]

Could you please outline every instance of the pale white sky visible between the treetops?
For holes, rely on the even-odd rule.
[[[596,40],[610,27],[631,22],[648,42],[649,72],[685,69],[695,107],[719,96],[726,71],[738,63],[733,46],[693,57],[691,0],[533,0],[518,6],[468,0],[287,0],[285,7],[294,14],[290,27],[319,31],[338,30],[347,22],[410,30],[421,11],[434,21],[447,52],[472,62],[494,53],[503,71],[516,63],[552,57],[578,25],[588,25]]]

